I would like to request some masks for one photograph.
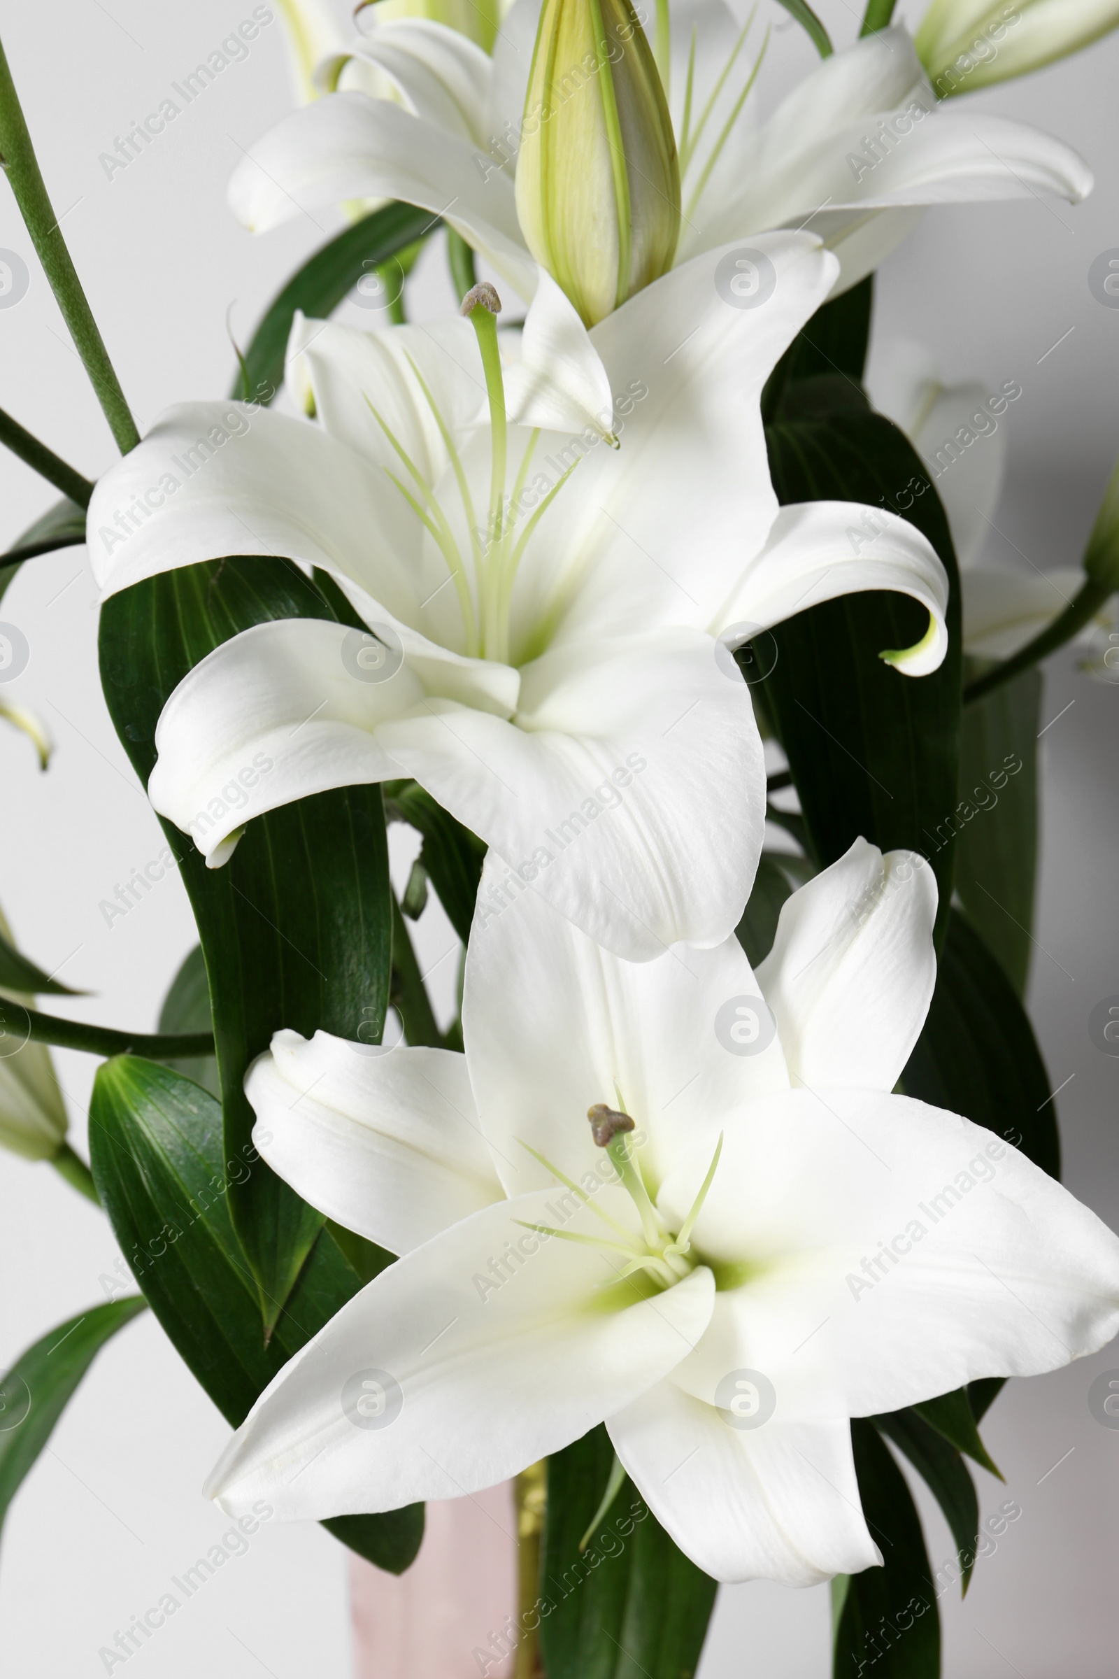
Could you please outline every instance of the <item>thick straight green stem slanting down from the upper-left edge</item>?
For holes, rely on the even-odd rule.
[[[116,438],[122,455],[139,443],[139,432],[129,411],[121,381],[112,371],[109,353],[104,346],[97,322],[82,290],[82,282],[70,262],[59,218],[54,213],[44,178],[39,171],[35,148],[27,133],[27,123],[20,107],[12,71],[0,44],[0,163],[12,183],[15,201],[23,225],[39,252],[44,274],[50,282],[62,319],[70,329],[74,348],[77,349],[86,373],[94,388],[97,401],[109,421],[109,430]]]

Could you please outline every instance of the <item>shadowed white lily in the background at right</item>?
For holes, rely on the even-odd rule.
[[[929,470],[951,527],[963,588],[963,650],[973,658],[1012,658],[1072,603],[1084,584],[1077,566],[1027,571],[983,566],[1005,470],[1003,416],[1022,395],[1017,379],[990,391],[968,379],[941,384],[916,344],[872,359],[871,401],[906,433]],[[1101,623],[1111,620],[1099,620]],[[1089,625],[1079,640],[1090,640]]]

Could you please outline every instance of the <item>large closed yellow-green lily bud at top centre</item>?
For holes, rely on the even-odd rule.
[[[517,213],[528,250],[587,326],[671,265],[676,139],[629,0],[544,0]]]

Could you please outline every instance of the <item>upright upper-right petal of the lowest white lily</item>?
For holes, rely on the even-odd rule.
[[[785,900],[758,967],[794,1085],[893,1090],[936,984],[936,878],[856,840]]]

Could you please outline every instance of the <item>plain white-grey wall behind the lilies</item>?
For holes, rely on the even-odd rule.
[[[812,62],[785,13],[775,24],[772,91]],[[245,339],[282,279],[341,225],[322,213],[253,238],[225,208],[225,180],[289,107],[278,22],[126,171],[106,180],[99,153],[154,109],[250,13],[252,0],[57,0],[0,7],[55,212],[111,348],[141,432],[173,401],[221,395],[232,353],[225,317]],[[342,10],[342,5],[339,5]],[[847,42],[852,5],[819,12]],[[861,12],[861,7],[859,7]],[[919,15],[919,7],[901,15]],[[1077,146],[1096,195],[1070,210],[1027,200],[929,215],[881,274],[879,343],[923,339],[950,379],[991,388],[1020,379],[1005,420],[1010,477],[991,556],[1017,566],[1072,564],[1119,450],[1119,311],[1087,289],[1092,259],[1119,247],[1119,42],[976,106],[1035,121]],[[79,470],[96,477],[114,448],[10,193],[0,185],[0,247],[30,270],[27,297],[0,311],[0,401]],[[421,280],[438,299],[438,254]],[[367,317],[354,312],[356,321]],[[1069,329],[1074,329],[1069,332]],[[1064,343],[1045,354],[1062,334]],[[1044,359],[1042,359],[1044,358]],[[980,443],[978,447],[983,447]],[[0,458],[10,542],[55,499],[29,468]],[[99,900],[154,858],[163,840],[121,752],[96,670],[96,593],[84,551],[27,566],[3,603],[32,646],[10,697],[49,724],[57,752],[39,774],[29,742],[0,732],[0,900],[22,947],[96,996],[75,1017],[151,1029],[178,962],[195,942],[185,893],[163,881],[109,928]],[[1119,1061],[1087,1038],[1097,999],[1119,992],[1116,707],[1119,690],[1090,682],[1075,655],[1050,662],[1045,720],[1074,702],[1044,740],[1044,860],[1030,1009],[1060,1095],[1065,1182],[1119,1221],[1116,1093]],[[398,860],[398,866],[401,861]],[[450,949],[446,923],[424,927],[429,964]],[[443,960],[440,977],[450,975]],[[74,1142],[86,1147],[92,1061],[59,1053]],[[104,1217],[49,1167],[0,1159],[0,1368],[50,1325],[102,1298],[116,1247]],[[986,1439],[1007,1489],[980,1474],[985,1511],[1015,1498],[1022,1518],[981,1560],[960,1605],[941,1598],[950,1679],[1020,1674],[1049,1679],[1114,1672],[1119,1637],[1119,1432],[1099,1427],[1085,1395],[1119,1350],[998,1400]],[[102,1672],[97,1650],[154,1603],[171,1575],[225,1530],[200,1496],[225,1424],[144,1316],[94,1365],[50,1447],[20,1491],[0,1555],[0,1661],[8,1672],[81,1679]],[[1059,1467],[1052,1467],[1059,1464]],[[928,1501],[924,1501],[928,1508]],[[934,1567],[951,1555],[936,1513]],[[138,1674],[275,1679],[351,1667],[344,1553],[314,1526],[267,1526],[133,1657]],[[119,1671],[119,1669],[117,1669]],[[133,1667],[129,1667],[129,1672]],[[829,1671],[825,1592],[752,1585],[726,1590],[701,1679],[742,1672],[820,1679]]]

